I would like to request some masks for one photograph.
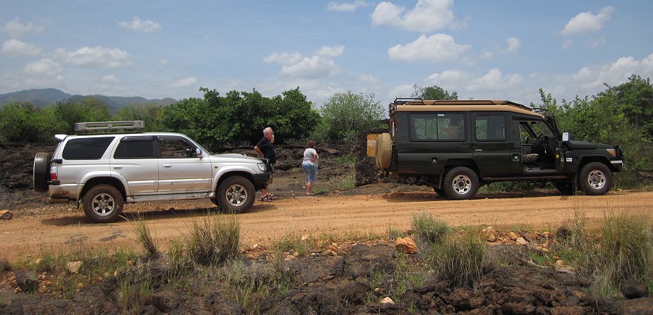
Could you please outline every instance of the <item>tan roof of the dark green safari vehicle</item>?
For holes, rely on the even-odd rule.
[[[397,104],[395,109],[398,112],[432,112],[432,111],[509,111],[543,117],[540,113],[527,109],[522,104],[517,104],[505,100],[458,100],[458,101],[432,101],[425,100],[417,102],[407,102],[406,104]]]

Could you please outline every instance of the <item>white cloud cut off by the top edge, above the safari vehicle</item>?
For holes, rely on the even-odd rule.
[[[372,25],[391,25],[415,32],[433,32],[454,21],[452,0],[417,0],[415,8],[406,10],[391,2],[381,2],[372,13]]]

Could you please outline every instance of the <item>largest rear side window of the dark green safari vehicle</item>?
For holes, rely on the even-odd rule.
[[[465,117],[463,113],[434,113],[410,115],[410,139],[412,140],[465,140]]]

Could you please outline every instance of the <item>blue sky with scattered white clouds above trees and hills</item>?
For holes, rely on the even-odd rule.
[[[383,104],[412,86],[539,102],[653,77],[653,1],[30,1],[0,9],[0,93]]]

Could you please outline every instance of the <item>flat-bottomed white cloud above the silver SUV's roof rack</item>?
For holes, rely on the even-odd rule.
[[[132,65],[127,51],[102,46],[82,47],[76,51],[58,48],[56,56],[70,65],[79,67],[117,68]]]

